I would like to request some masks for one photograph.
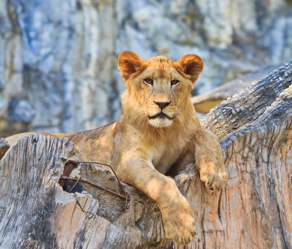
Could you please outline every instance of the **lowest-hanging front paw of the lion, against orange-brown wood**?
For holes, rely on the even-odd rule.
[[[195,220],[187,201],[178,209],[170,208],[162,213],[166,237],[177,245],[191,243],[196,235]]]

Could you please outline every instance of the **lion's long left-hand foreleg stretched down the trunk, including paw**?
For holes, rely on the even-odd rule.
[[[122,160],[123,161],[123,160]],[[166,237],[176,244],[189,244],[195,236],[193,212],[175,182],[154,169],[149,160],[122,162],[118,177],[155,200],[161,210]]]

